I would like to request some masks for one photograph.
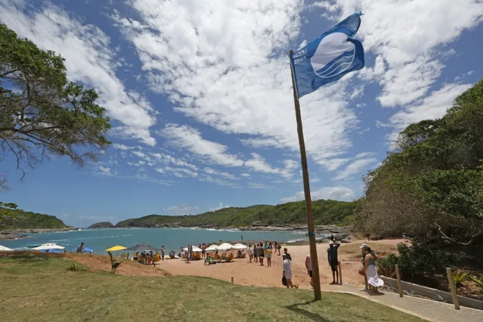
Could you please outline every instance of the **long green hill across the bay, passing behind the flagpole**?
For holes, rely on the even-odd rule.
[[[317,200],[312,202],[314,222],[316,225],[347,222],[352,217],[357,201]],[[156,227],[156,226],[214,226],[246,227],[253,223],[263,225],[287,225],[306,223],[305,201],[282,203],[280,205],[253,205],[250,207],[228,207],[215,212],[196,215],[149,216],[126,219],[115,227]]]

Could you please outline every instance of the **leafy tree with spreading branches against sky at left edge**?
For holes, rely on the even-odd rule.
[[[24,175],[24,164],[34,167],[50,156],[78,166],[96,160],[110,144],[110,119],[98,97],[67,82],[62,57],[0,24],[0,153],[12,155]]]

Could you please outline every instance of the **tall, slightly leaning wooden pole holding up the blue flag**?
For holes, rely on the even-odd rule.
[[[289,55],[294,53],[290,51]],[[302,164],[303,192],[305,194],[305,212],[307,213],[307,226],[309,230],[310,258],[312,260],[312,276],[314,280],[314,300],[321,300],[321,280],[319,275],[319,260],[317,259],[317,246],[315,242],[314,217],[312,217],[312,198],[310,197],[309,168],[307,167],[307,154],[303,139],[302,117],[300,116],[300,103],[298,102],[297,87],[295,84],[294,66],[290,59],[292,86],[294,87],[295,117],[297,119],[298,144],[300,145],[300,162]]]

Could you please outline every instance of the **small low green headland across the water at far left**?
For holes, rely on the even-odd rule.
[[[7,211],[14,213],[15,216],[5,215]],[[37,214],[23,210],[4,210],[0,207],[0,230],[35,228],[67,228],[67,225],[49,214]]]

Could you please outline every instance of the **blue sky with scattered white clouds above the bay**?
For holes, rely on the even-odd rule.
[[[313,199],[352,201],[400,130],[483,76],[481,0],[0,0],[0,22],[99,93],[110,148],[1,201],[76,227],[303,200],[287,52],[356,11],[366,67],[300,99]]]

